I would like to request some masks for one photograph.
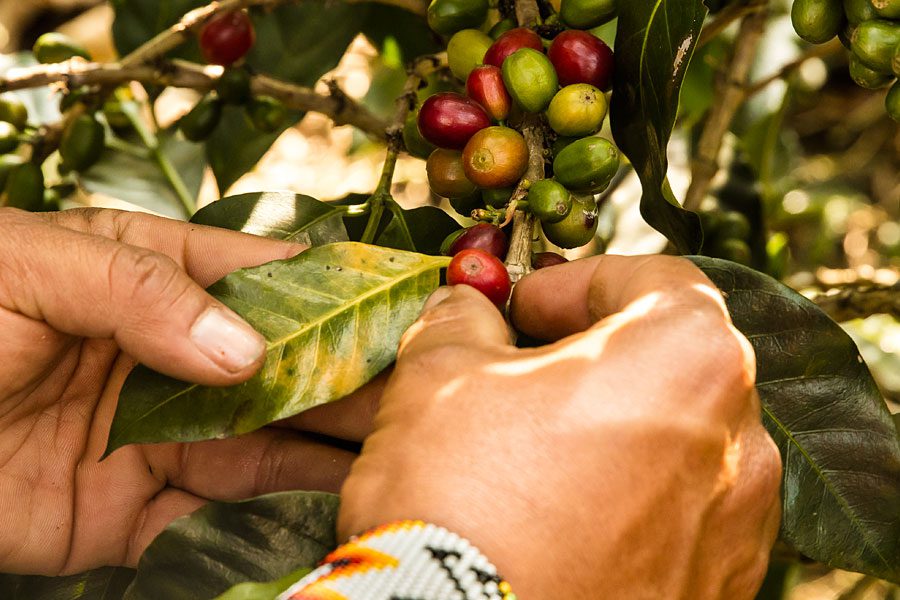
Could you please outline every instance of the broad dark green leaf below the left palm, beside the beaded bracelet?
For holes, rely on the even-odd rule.
[[[244,582],[299,579],[299,569],[315,568],[337,546],[338,506],[337,496],[321,492],[211,502],[153,540],[125,598],[215,598]]]

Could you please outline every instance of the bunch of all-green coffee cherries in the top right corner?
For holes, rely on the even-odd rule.
[[[900,0],[795,0],[791,21],[812,44],[840,38],[853,81],[869,90],[891,86],[885,108],[900,122]]]

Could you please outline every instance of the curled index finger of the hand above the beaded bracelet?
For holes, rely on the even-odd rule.
[[[623,312],[712,311],[728,320],[722,295],[693,263],[673,256],[595,256],[541,269],[513,292],[516,328],[556,341]]]

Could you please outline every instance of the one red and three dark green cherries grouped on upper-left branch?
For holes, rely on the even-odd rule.
[[[206,62],[225,68],[216,89],[206,94],[178,121],[185,138],[201,142],[215,131],[226,105],[244,107],[247,121],[262,133],[274,133],[285,123],[288,111],[271,96],[254,96],[250,72],[238,63],[253,48],[256,33],[246,11],[221,14],[200,32],[200,50]]]

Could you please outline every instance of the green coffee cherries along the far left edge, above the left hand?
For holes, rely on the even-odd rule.
[[[80,58],[90,60],[87,50],[75,40],[60,33],[40,36],[32,48],[34,57],[42,64],[53,64]],[[70,91],[63,97],[60,108],[65,111],[81,101],[85,90]],[[59,170],[62,174],[85,171],[93,166],[105,147],[105,129],[98,113],[101,106],[85,103],[83,110],[70,119],[59,140]],[[71,185],[45,186],[42,164],[48,152],[46,141],[37,127],[29,123],[28,107],[14,94],[0,96],[0,190],[4,206],[28,211],[54,210],[63,188]],[[23,146],[30,146],[23,152]],[[27,158],[26,158],[27,157]],[[71,191],[71,190],[69,190]]]

